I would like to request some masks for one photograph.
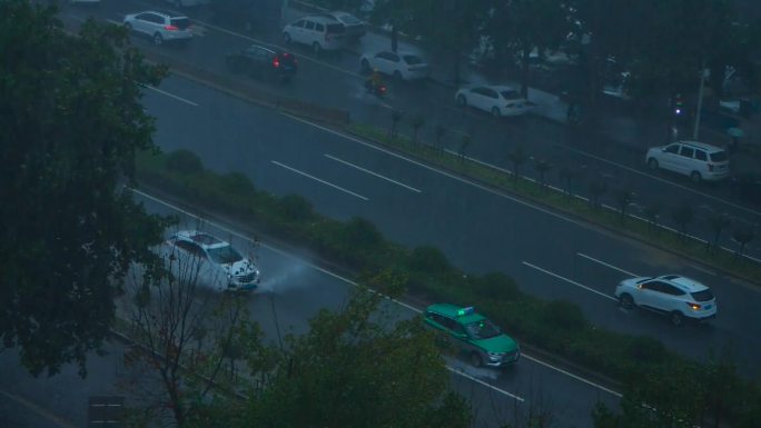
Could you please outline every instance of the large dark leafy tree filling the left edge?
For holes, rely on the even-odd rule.
[[[166,69],[118,26],[72,36],[56,13],[0,1],[0,337],[34,375],[69,361],[85,375],[130,263],[157,262],[165,222],[121,185],[135,153],[156,149],[140,84]]]

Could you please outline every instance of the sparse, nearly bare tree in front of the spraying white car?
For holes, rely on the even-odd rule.
[[[248,317],[246,293],[225,290],[227,278],[209,278],[199,256],[176,249],[161,255],[164,275],[145,281],[137,272],[122,300],[130,336],[147,348],[141,371],[158,377],[156,390],[138,391],[155,417],[169,409],[178,427],[197,417],[197,404],[235,380],[236,360],[244,355],[249,369],[260,369],[267,350]],[[225,362],[227,361],[227,365]],[[256,364],[250,364],[256,361]],[[229,368],[228,377],[225,368]],[[151,402],[152,401],[152,402]]]

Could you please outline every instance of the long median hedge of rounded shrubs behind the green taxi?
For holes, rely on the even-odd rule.
[[[745,411],[731,407],[733,402],[757,397],[757,385],[742,379],[734,369],[706,376],[719,372],[714,362],[682,357],[651,337],[594,326],[579,306],[533,297],[502,272],[464,272],[441,250],[392,242],[365,219],[334,220],[316,212],[300,196],[275,197],[256,189],[241,173],[207,170],[190,151],[141,153],[137,172],[141,186],[170,196],[180,206],[257,228],[265,239],[318,255],[325,266],[338,268],[349,278],[392,269],[407,278],[408,295],[417,301],[475,306],[521,342],[585,368],[587,374],[610,378],[624,394],[639,385],[638,379],[660,379],[653,385],[701,379],[701,388],[708,391],[740,385],[742,388],[735,389],[743,399],[733,399],[729,410],[722,409],[730,418],[742,417]]]

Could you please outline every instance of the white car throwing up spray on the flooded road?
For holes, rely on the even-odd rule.
[[[169,270],[180,281],[197,281],[214,290],[251,290],[259,269],[229,242],[197,230],[184,230],[164,242]]]

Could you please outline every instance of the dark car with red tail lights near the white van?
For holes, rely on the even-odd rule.
[[[298,61],[290,52],[251,44],[243,51],[229,53],[227,68],[234,73],[260,79],[288,80],[296,74]]]

